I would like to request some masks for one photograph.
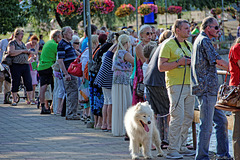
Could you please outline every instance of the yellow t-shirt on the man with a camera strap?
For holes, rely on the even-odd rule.
[[[190,49],[192,50],[192,44],[188,42]],[[180,42],[182,49],[185,51],[187,56],[191,57],[191,52],[187,49],[187,46],[184,42]],[[159,57],[168,58],[168,62],[174,62],[184,56],[181,48],[178,47],[174,39],[169,39],[166,43],[163,44],[160,50]],[[183,83],[184,76],[184,66],[179,66],[170,71],[165,72],[165,81],[166,87],[172,85],[181,85]],[[190,67],[187,65],[186,76],[184,84],[190,84]]]

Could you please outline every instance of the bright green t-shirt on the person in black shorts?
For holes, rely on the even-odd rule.
[[[47,41],[42,49],[37,70],[50,68],[56,61],[58,44],[52,39]]]

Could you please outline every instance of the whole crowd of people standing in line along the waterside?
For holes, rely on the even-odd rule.
[[[191,32],[194,43],[187,41]],[[222,110],[214,107],[218,92],[216,65],[228,69],[228,62],[219,56],[211,42],[212,38],[219,37],[219,32],[214,17],[205,18],[200,29],[194,22],[190,24],[183,19],[177,19],[172,30],[165,31],[145,24],[140,27],[138,35],[132,27],[114,32],[106,27],[98,29],[92,24],[91,33],[85,27],[82,38],[77,31],[66,26],[51,31],[46,43],[42,36],[32,35],[24,44],[24,30],[17,28],[11,38],[1,41],[4,53],[6,51],[5,54],[12,58],[9,66],[11,105],[17,106],[21,81],[26,87],[26,103],[36,104],[34,93],[39,84],[40,114],[53,112],[65,115],[66,120],[85,122],[90,122],[93,117],[93,128],[111,132],[113,136],[125,136],[128,140],[123,125],[127,108],[148,101],[159,125],[162,147],[167,147],[167,158],[180,159],[196,154],[197,160],[209,159],[214,123],[217,158],[232,159],[227,118]],[[88,47],[90,43],[91,49]],[[230,85],[233,86],[239,85],[239,43],[238,38],[229,56]],[[68,72],[76,58],[82,64],[80,77]],[[144,94],[139,94],[141,84],[145,85]],[[8,81],[7,90],[9,86]],[[51,105],[45,95],[49,88],[53,92]],[[200,106],[201,122],[196,152],[187,146],[195,99]],[[82,115],[78,112],[79,105],[83,106]],[[234,158],[239,160],[239,112],[234,113],[234,119]]]

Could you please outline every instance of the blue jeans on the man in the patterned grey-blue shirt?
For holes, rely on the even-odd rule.
[[[196,160],[209,160],[208,150],[212,127],[216,129],[217,156],[231,157],[228,144],[228,121],[223,111],[214,106],[217,96],[203,95],[197,97],[200,105],[200,132]]]

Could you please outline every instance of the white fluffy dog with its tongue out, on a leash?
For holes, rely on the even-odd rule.
[[[132,159],[139,159],[141,147],[145,159],[153,158],[151,154],[152,142],[157,148],[157,156],[164,156],[159,132],[155,125],[154,113],[148,102],[138,103],[130,107],[125,114],[124,125],[130,138],[129,150]]]

